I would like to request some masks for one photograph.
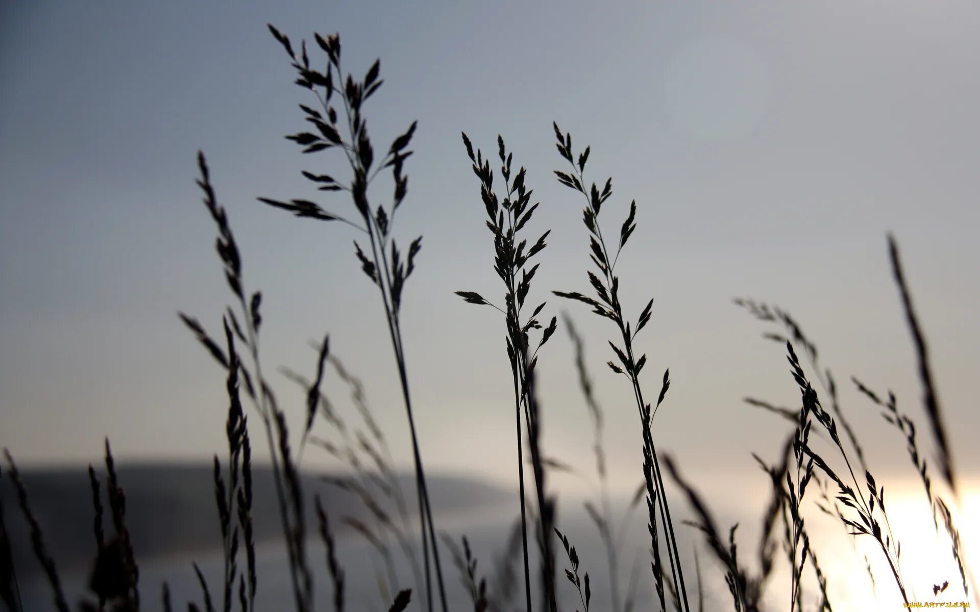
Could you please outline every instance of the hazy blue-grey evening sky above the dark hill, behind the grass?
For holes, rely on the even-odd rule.
[[[304,126],[298,104],[316,98],[292,84],[268,23],[310,39],[323,67],[315,31],[340,32],[345,71],[381,59],[384,85],[365,110],[375,149],[418,121],[395,235],[424,236],[402,317],[429,469],[515,481],[504,322],[453,295],[503,294],[465,131],[494,159],[501,134],[527,168],[541,203],[528,231],[552,230],[529,301],[547,300],[546,315],[567,310],[584,334],[613,488],[640,479],[636,409],[605,366],[614,330],[550,293],[587,293],[590,265],[582,201],[552,173],[566,169],[556,120],[576,152],[591,145],[588,180],[613,176],[608,231],[636,200],[638,228],[616,270],[631,316],[655,298],[639,338],[647,395],[666,368],[672,385],[654,435],[688,476],[718,492],[764,485],[750,452],[774,460],[788,424],[743,398],[799,405],[785,348],[761,338],[778,330],[732,304],[753,297],[791,312],[814,340],[879,478],[919,486],[901,434],[849,382],[893,390],[935,464],[892,232],[953,458],[964,490],[976,487],[980,8],[956,0],[2,2],[0,445],[23,464],[96,461],[105,436],[125,460],[205,459],[224,447],[221,369],[176,316],[219,334],[230,297],[194,184],[202,150],[247,287],[264,293],[263,362],[290,418],[298,427],[303,398],[276,369],[312,377],[309,342],[328,333],[410,465],[383,311],[354,230],[256,200],[356,214],[300,174],[346,176],[343,158],[303,156],[283,138]],[[561,327],[539,382],[545,451],[594,475]],[[330,377],[324,391],[338,403],[347,393]],[[329,465],[313,452],[305,460]],[[584,487],[555,478],[563,491]]]

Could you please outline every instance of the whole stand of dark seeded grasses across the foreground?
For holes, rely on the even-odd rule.
[[[484,156],[479,148],[474,150],[464,133],[463,147],[478,182],[479,203],[486,210],[486,226],[493,241],[493,268],[503,282],[504,291],[502,295],[494,294],[491,297],[485,292],[472,291],[474,288],[465,288],[458,295],[467,303],[490,306],[497,311],[487,310],[474,313],[474,316],[496,314],[503,318],[507,358],[512,373],[510,384],[514,390],[518,448],[515,468],[519,483],[519,507],[515,508],[515,515],[519,514],[519,524],[512,538],[512,552],[517,557],[515,565],[519,569],[511,568],[508,571],[505,564],[503,570],[491,577],[488,587],[487,576],[481,572],[466,538],[455,541],[437,532],[433,519],[433,495],[426,479],[422,449],[417,443],[417,406],[413,403],[403,345],[401,305],[403,290],[415,271],[421,238],[411,240],[406,248],[405,242],[398,242],[394,233],[396,212],[408,193],[405,168],[406,160],[412,155],[409,146],[416,123],[395,138],[387,149],[375,151],[368,136],[368,121],[364,112],[370,97],[383,82],[379,63],[375,62],[362,79],[350,73],[345,76],[341,68],[339,37],[331,35],[324,38],[317,34],[317,46],[327,57],[326,69],[320,72],[312,68],[306,42],[297,48],[274,27],[270,26],[270,31],[297,72],[295,82],[311,96],[309,106],[307,101],[300,105],[309,131],[301,131],[287,138],[301,146],[304,153],[325,151],[335,158],[346,160],[349,166],[349,172],[330,170],[329,174],[318,174],[304,171],[303,174],[320,191],[341,192],[333,195],[345,199],[349,197],[354,208],[352,214],[342,216],[309,200],[267,197],[259,200],[298,217],[314,221],[339,221],[356,230],[355,256],[368,281],[377,288],[383,306],[384,325],[389,331],[397,364],[397,384],[402,391],[409,423],[407,433],[412,442],[414,478],[409,487],[405,487],[406,483],[397,478],[385,433],[373,419],[364,389],[360,381],[331,354],[327,337],[317,346],[318,356],[312,379],[285,372],[292,382],[303,388],[306,396],[303,421],[287,423],[261,359],[262,294],[252,291],[246,284],[241,254],[230,221],[219,204],[207,162],[201,154],[198,158],[198,185],[204,194],[207,212],[218,231],[217,251],[231,292],[231,306],[222,312],[223,325],[217,334],[206,330],[193,316],[180,313],[179,317],[224,371],[228,398],[227,447],[214,457],[209,486],[212,491],[201,492],[211,496],[217,508],[217,529],[212,535],[215,541],[220,542],[223,551],[221,581],[209,584],[201,570],[194,565],[201,594],[198,601],[191,602],[172,601],[167,583],[162,586],[140,583],[135,554],[137,546],[133,545],[131,528],[134,521],[141,519],[130,516],[127,511],[129,497],[123,489],[123,479],[116,470],[107,441],[105,470],[90,467],[88,471],[87,493],[92,507],[90,537],[94,537],[94,554],[88,557],[93,559],[88,583],[90,593],[84,600],[70,604],[62,587],[58,562],[45,543],[44,530],[50,528],[37,520],[26,486],[29,483],[24,482],[14,458],[7,453],[7,467],[2,475],[13,484],[13,491],[16,492],[13,503],[25,516],[30,545],[50,584],[55,609],[62,612],[73,607],[83,611],[131,611],[138,610],[141,605],[146,605],[148,598],[153,598],[154,607],[158,605],[157,602],[162,602],[165,610],[186,606],[190,611],[221,609],[228,612],[234,609],[251,612],[256,609],[257,589],[263,588],[262,576],[257,573],[256,541],[259,533],[255,517],[260,506],[269,506],[274,509],[270,510],[270,514],[276,517],[275,533],[286,549],[291,600],[282,602],[282,609],[291,606],[299,612],[314,609],[340,612],[356,607],[348,605],[345,598],[344,562],[337,555],[335,533],[338,524],[343,524],[368,541],[381,559],[386,570],[379,588],[389,593],[392,611],[405,610],[413,603],[418,609],[446,612],[450,607],[446,594],[447,572],[453,571],[450,564],[459,573],[471,598],[470,605],[477,612],[514,609],[556,612],[562,607],[560,588],[573,589],[576,607],[585,611],[594,608],[629,612],[637,607],[682,612],[703,610],[705,597],[701,588],[700,563],[697,559],[693,560],[697,569],[696,576],[692,576],[692,559],[681,550],[676,537],[681,527],[677,518],[680,506],[682,509],[689,508],[693,513],[695,521],[692,524],[700,531],[707,549],[719,563],[731,594],[731,609],[745,612],[762,610],[763,593],[776,568],[783,566],[790,570],[790,596],[785,602],[790,612],[832,610],[834,602],[830,600],[827,590],[830,578],[824,571],[826,565],[817,559],[805,522],[804,508],[811,500],[822,512],[834,517],[848,533],[874,542],[876,554],[890,569],[888,580],[909,602],[909,585],[916,578],[903,572],[902,534],[892,530],[884,486],[875,480],[860,444],[860,434],[850,425],[838,400],[836,379],[829,369],[819,363],[813,342],[788,312],[750,299],[735,301],[770,327],[765,336],[780,343],[786,351],[788,374],[800,389],[799,407],[793,409],[780,408],[763,400],[748,400],[793,424],[792,433],[785,441],[773,441],[774,446],[780,448],[780,458],[776,463],[768,464],[756,455],[760,468],[771,483],[771,498],[760,517],[761,536],[756,546],[758,559],[752,569],[744,558],[738,556],[736,528],[719,525],[712,516],[708,499],[685,478],[682,467],[670,455],[658,450],[653,420],[667,400],[670,378],[669,372],[652,374],[648,370],[644,373],[647,355],[643,353],[640,333],[651,319],[653,300],[639,305],[621,304],[620,287],[630,281],[620,279],[615,272],[620,256],[628,257],[625,248],[637,228],[638,207],[633,201],[625,216],[620,213],[619,219],[610,218],[613,211],[609,209],[614,206],[610,202],[613,197],[612,178],[598,183],[587,180],[585,170],[590,147],[575,148],[570,133],[563,131],[558,124],[554,125],[554,131],[561,158],[557,162],[561,163],[562,168],[555,170],[555,174],[559,182],[576,192],[571,194],[572,197],[583,203],[582,220],[589,234],[586,248],[593,265],[586,270],[588,287],[583,292],[552,293],[564,300],[584,304],[593,313],[608,319],[612,358],[607,365],[615,375],[622,377],[622,384],[632,392],[638,418],[636,431],[640,452],[636,456],[636,466],[640,468],[638,476],[642,476],[643,485],[631,500],[627,518],[634,508],[642,507],[645,501],[651,574],[644,572],[641,576],[652,581],[656,596],[654,600],[638,602],[634,595],[635,580],[631,580],[625,588],[620,583],[620,574],[628,565],[628,560],[620,558],[621,522],[613,517],[607,487],[603,412],[593,394],[582,341],[569,320],[565,320],[564,326],[575,348],[572,356],[578,382],[590,410],[595,435],[596,470],[602,483],[598,499],[587,503],[586,509],[603,542],[606,558],[602,561],[579,559],[574,545],[576,535],[558,529],[559,498],[548,486],[549,471],[555,466],[540,444],[543,411],[535,390],[535,366],[540,358],[558,358],[548,353],[546,344],[556,333],[559,323],[556,316],[546,314],[550,310],[548,303],[531,298],[532,281],[538,279],[540,282],[536,276],[537,260],[547,246],[549,231],[532,229],[532,216],[538,204],[531,204],[533,192],[525,182],[525,168],[515,169],[512,165],[514,154],[507,150],[503,138],[498,137],[495,143],[500,163],[499,174],[495,176],[491,164],[496,165],[497,161],[491,162],[492,156]],[[394,185],[391,201],[387,205],[372,204],[374,196],[373,192],[368,195],[368,188],[379,173],[387,170],[391,172]],[[932,509],[937,537],[951,542],[949,553],[956,561],[958,574],[950,576],[943,584],[935,585],[933,594],[955,592],[956,601],[963,602],[961,605],[965,609],[968,605],[966,602],[976,602],[977,599],[972,576],[964,564],[964,553],[954,523],[955,513],[951,511],[951,507],[958,502],[954,462],[930,371],[926,343],[909,295],[898,247],[891,237],[889,256],[917,357],[924,411],[913,417],[898,407],[895,396],[890,392],[872,390],[857,379],[853,379],[852,384],[867,401],[880,408],[888,428],[897,430],[894,432],[896,441],[906,444],[912,468],[921,479],[923,493]],[[322,389],[324,376],[331,370],[348,386],[361,422],[346,423],[331,407]],[[925,452],[915,425],[916,420],[923,416],[931,443],[939,456],[938,465],[931,470],[924,459]],[[318,418],[336,433],[335,440],[312,435]],[[298,433],[298,437],[290,434],[290,428],[294,434]],[[252,465],[255,437],[270,449],[271,463],[268,468],[259,470]],[[297,440],[298,445],[293,447]],[[817,440],[819,442],[815,442]],[[308,446],[330,453],[349,468],[343,476],[324,477],[331,487],[326,491],[330,495],[342,492],[357,499],[361,504],[360,514],[355,515],[332,502],[326,503],[321,494],[313,493],[315,487],[301,476],[300,471],[301,457]],[[528,474],[524,472],[526,464],[530,465]],[[260,473],[264,485],[257,487]],[[668,481],[674,486],[668,488]],[[406,489],[414,491],[406,492]],[[269,494],[270,498],[260,499],[256,496],[257,492]],[[8,609],[20,611],[23,604],[18,582],[19,568],[13,562],[8,531],[3,522],[3,511],[10,511],[10,500],[4,501],[8,504],[0,508],[0,598]],[[262,535],[265,536],[268,531],[269,528],[264,525]],[[313,550],[310,542],[316,540],[321,545]],[[408,564],[410,577],[398,575],[395,557]],[[536,560],[537,567],[532,567],[532,558]],[[314,601],[311,569],[314,559],[325,563],[327,568],[331,583],[328,601]],[[598,563],[608,566],[610,581],[610,599],[602,603],[592,599],[592,579],[586,569]],[[688,570],[687,574],[685,569]],[[867,571],[871,573],[870,561]],[[636,577],[634,574],[634,579]],[[810,593],[806,599],[805,591]]]

